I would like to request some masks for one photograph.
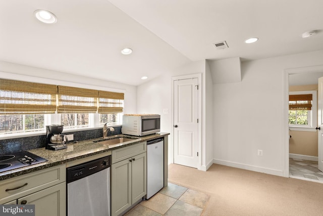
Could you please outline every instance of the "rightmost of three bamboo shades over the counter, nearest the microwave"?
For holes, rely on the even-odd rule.
[[[122,113],[124,93],[99,91],[98,113]]]

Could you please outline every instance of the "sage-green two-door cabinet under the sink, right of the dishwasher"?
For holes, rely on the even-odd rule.
[[[138,143],[137,146],[130,149],[146,150],[146,142]],[[137,201],[146,195],[147,184],[147,156],[146,152],[134,155],[132,150],[128,147],[117,149],[117,155],[122,155],[123,159],[113,158],[114,151],[112,151],[112,161],[119,161],[111,166],[111,215],[116,216],[123,213]],[[124,152],[123,152],[124,150]],[[128,155],[128,157],[127,157]],[[129,157],[130,156],[130,157]],[[120,157],[118,157],[120,158]]]

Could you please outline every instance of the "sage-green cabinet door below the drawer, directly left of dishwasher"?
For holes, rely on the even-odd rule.
[[[65,216],[66,182],[21,197],[18,204],[24,200],[26,204],[35,204],[35,216]]]

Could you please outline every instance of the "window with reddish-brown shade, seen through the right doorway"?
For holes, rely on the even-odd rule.
[[[316,127],[316,91],[294,91],[289,95],[289,126],[291,130]]]

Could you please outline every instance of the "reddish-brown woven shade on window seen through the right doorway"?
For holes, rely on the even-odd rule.
[[[289,95],[289,110],[311,110],[312,94]]]

